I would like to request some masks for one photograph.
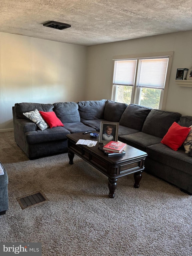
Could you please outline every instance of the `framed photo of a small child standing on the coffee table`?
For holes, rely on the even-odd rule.
[[[99,143],[118,141],[119,122],[101,121]]]

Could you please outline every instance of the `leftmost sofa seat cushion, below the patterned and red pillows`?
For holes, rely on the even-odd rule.
[[[29,144],[43,143],[54,140],[67,140],[67,134],[70,134],[64,127],[47,128],[44,131],[28,131],[25,133],[25,140]]]

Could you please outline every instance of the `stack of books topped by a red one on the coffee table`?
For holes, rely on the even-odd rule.
[[[99,146],[99,149],[104,151],[106,155],[121,155],[125,154],[123,150],[126,147],[126,143],[117,142],[117,141],[110,141],[105,146]]]

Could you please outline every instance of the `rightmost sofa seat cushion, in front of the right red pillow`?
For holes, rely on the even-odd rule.
[[[192,175],[192,157],[186,154],[183,148],[175,151],[158,143],[148,146],[146,152],[149,158]]]

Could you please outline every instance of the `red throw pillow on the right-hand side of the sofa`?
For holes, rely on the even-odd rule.
[[[161,140],[161,143],[176,151],[187,138],[190,129],[190,127],[183,127],[174,122]]]

